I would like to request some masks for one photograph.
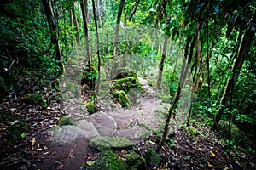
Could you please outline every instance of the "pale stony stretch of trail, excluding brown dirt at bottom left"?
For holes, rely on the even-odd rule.
[[[90,140],[99,135],[123,137],[134,143],[146,139],[159,124],[160,120],[154,112],[160,108],[161,101],[145,79],[140,77],[139,81],[144,91],[137,105],[99,111],[82,120],[81,116],[77,116],[79,121],[74,126],[60,127],[51,133],[50,141],[68,144],[81,137]]]

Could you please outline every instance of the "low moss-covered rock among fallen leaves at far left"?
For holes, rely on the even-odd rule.
[[[42,94],[28,94],[24,98],[24,101],[30,105],[41,105],[42,107],[48,106]]]

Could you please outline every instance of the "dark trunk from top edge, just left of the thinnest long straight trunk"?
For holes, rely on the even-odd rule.
[[[86,11],[88,11],[88,9],[84,8],[84,0],[81,0],[80,3],[81,9],[82,9],[82,15],[83,15],[83,21],[84,21],[84,37],[85,37],[85,50],[86,50],[86,54],[87,54],[87,59],[88,59],[88,68],[89,71],[91,73],[91,60],[90,60],[90,47],[89,47],[89,33],[88,33],[88,23],[86,20]],[[90,87],[92,88],[92,87]]]

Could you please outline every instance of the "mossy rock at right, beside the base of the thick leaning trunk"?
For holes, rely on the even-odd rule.
[[[226,138],[234,139],[237,142],[241,140],[241,130],[235,124],[230,123],[229,127],[228,121],[221,120],[218,123],[218,127],[221,132],[224,132]]]

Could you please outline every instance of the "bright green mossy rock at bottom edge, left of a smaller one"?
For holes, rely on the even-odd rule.
[[[91,166],[85,167],[84,170],[126,170],[127,164],[120,160],[113,151],[104,151],[102,155],[97,159],[96,163]]]

